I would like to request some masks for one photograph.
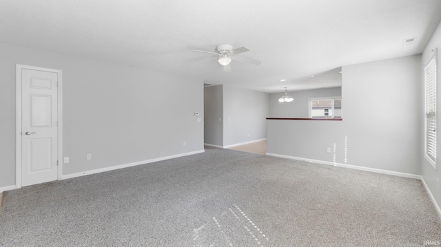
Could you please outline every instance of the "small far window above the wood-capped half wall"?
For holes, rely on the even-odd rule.
[[[309,118],[342,118],[342,99],[310,98]]]

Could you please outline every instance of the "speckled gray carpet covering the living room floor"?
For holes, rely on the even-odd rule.
[[[205,153],[3,195],[0,246],[424,246],[441,220],[419,180]]]

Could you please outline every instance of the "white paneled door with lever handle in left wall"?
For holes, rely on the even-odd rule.
[[[58,77],[57,72],[21,68],[22,186],[58,177]]]

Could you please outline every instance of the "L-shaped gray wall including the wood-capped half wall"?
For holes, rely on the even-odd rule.
[[[420,59],[343,66],[343,120],[268,120],[267,152],[420,174]]]

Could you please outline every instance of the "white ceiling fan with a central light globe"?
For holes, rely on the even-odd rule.
[[[247,47],[238,47],[236,49],[233,49],[232,45],[220,44],[220,45],[216,46],[216,52],[207,52],[207,51],[199,51],[199,50],[194,50],[194,52],[202,52],[202,53],[216,55],[216,57],[214,57],[214,58],[209,58],[204,61],[200,61],[198,63],[204,63],[207,61],[217,59],[218,63],[220,63],[220,65],[223,65],[223,70],[225,72],[229,72],[232,69],[232,67],[229,65],[229,63],[232,60],[245,62],[245,63],[252,63],[254,65],[260,65],[260,61],[258,61],[256,59],[244,58],[243,56],[236,56],[237,54],[240,54],[243,52],[249,52],[249,49]],[[193,65],[196,65],[198,63],[194,63]]]

